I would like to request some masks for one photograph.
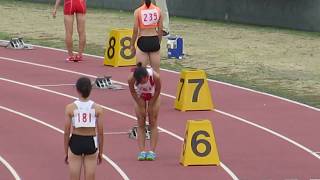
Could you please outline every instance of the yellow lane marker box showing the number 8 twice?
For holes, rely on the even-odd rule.
[[[136,64],[135,54],[131,53],[131,29],[113,29],[106,42],[104,65],[114,67]]]

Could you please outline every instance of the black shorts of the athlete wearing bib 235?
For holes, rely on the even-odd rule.
[[[156,52],[160,50],[158,36],[141,36],[137,42],[138,48],[143,52]]]

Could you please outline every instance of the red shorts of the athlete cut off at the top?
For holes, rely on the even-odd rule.
[[[85,14],[86,0],[64,0],[64,15]]]

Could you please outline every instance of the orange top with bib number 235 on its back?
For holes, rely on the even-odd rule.
[[[138,9],[139,28],[148,29],[159,26],[160,8],[150,4],[149,8],[144,4]]]

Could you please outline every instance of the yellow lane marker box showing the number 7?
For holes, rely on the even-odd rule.
[[[183,70],[177,87],[175,108],[187,110],[213,110],[211,93],[203,70]]]

